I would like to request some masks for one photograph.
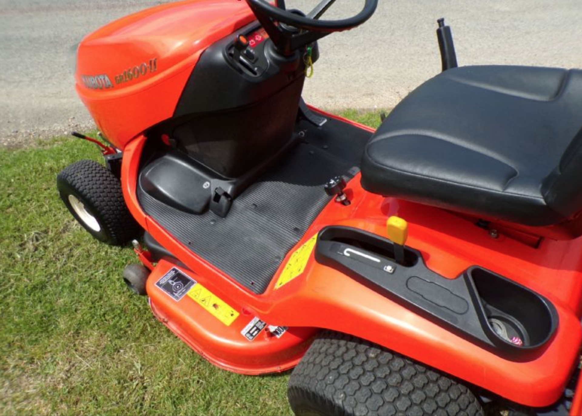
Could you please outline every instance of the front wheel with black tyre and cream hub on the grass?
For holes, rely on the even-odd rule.
[[[141,229],[129,213],[119,180],[94,161],[67,166],[56,177],[59,195],[74,218],[104,243],[120,246]]]

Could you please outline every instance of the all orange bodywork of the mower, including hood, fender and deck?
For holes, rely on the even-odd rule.
[[[330,202],[283,259],[265,293],[257,295],[198,257],[143,212],[136,185],[147,141],[144,131],[172,117],[205,49],[253,20],[244,1],[189,0],[120,19],[88,35],[79,47],[77,92],[99,129],[123,150],[121,179],[130,212],[186,266],[184,273],[239,315],[226,325],[188,296],[173,300],[155,285],[175,267],[164,260],[147,283],[154,314],[212,363],[244,374],[292,368],[313,336],[325,328],[378,343],[517,403],[542,407],[558,400],[582,342],[582,237],[545,239],[537,247],[503,233],[493,239],[462,216],[367,193],[356,176],[346,189],[352,204]],[[184,26],[191,28],[187,37]],[[96,59],[102,56],[107,59]],[[432,271],[453,279],[479,265],[552,301],[559,327],[548,346],[520,361],[502,358],[318,264],[313,253],[299,276],[275,288],[293,252],[324,227],[350,226],[385,236],[386,219],[392,215],[409,223],[407,245],[423,254]],[[280,337],[265,330],[249,342],[241,332],[255,317],[289,329]],[[580,410],[580,396],[573,411]]]

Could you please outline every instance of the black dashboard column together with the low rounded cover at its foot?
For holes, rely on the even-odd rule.
[[[299,111],[304,80],[301,53],[278,54],[257,22],[212,44],[172,118],[148,131],[158,148],[141,170],[141,189],[180,211],[225,218],[233,200],[297,144],[298,116],[325,123],[305,106]]]

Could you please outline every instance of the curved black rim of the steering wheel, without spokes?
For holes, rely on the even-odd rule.
[[[300,30],[308,30],[319,33],[339,32],[360,26],[360,24],[364,23],[366,20],[372,17],[378,6],[378,0],[365,0],[363,9],[356,16],[339,20],[317,20],[311,19],[310,17],[297,15],[296,13],[292,13],[289,10],[280,9],[271,5],[266,0],[246,1],[249,3],[249,5],[254,6],[254,8],[257,8],[260,10],[260,12],[269,16],[271,19],[276,20],[276,22],[285,23]]]

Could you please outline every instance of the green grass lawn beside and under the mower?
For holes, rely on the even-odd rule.
[[[0,414],[291,414],[289,374],[213,367],[125,287],[132,249],[98,243],[59,200],[56,175],[80,159],[102,161],[72,138],[0,150]]]

